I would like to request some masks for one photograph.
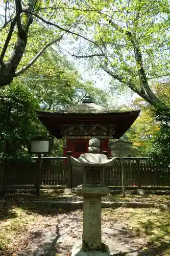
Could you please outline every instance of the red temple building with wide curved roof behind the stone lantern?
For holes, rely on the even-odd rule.
[[[81,104],[64,111],[36,113],[52,135],[66,139],[63,155],[71,151],[73,157],[79,158],[87,152],[89,139],[93,137],[100,139],[101,153],[107,151],[110,157],[109,139],[119,139],[124,135],[140,111],[114,112],[96,105],[87,96]]]

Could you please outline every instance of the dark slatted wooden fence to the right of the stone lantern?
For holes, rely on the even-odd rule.
[[[170,173],[152,163],[149,158],[123,158],[125,185],[133,186],[170,186]],[[120,159],[117,158],[112,168],[107,168],[107,184],[122,185]]]

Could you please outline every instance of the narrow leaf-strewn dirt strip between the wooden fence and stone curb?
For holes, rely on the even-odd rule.
[[[35,191],[32,190],[16,190],[15,193],[12,191],[8,191],[8,193],[0,198],[5,201],[57,201],[57,200],[74,200],[80,201],[83,200],[83,197],[78,196],[76,193],[72,193],[71,195],[64,195],[62,192],[64,190],[61,189],[44,189],[40,190],[39,198],[36,197]],[[144,191],[144,195],[136,195],[135,191],[127,190],[126,197],[122,197],[122,193],[120,191],[114,191],[116,194],[110,194],[103,198],[103,201],[125,201],[125,202],[154,202],[158,204],[169,204],[170,202],[170,191]],[[162,195],[160,195],[162,193]]]

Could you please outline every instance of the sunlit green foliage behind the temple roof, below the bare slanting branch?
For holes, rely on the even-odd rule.
[[[44,53],[35,62],[25,73],[23,81],[43,110],[57,111],[69,108],[81,102],[87,94],[90,94],[96,103],[107,105],[107,94],[95,88],[90,81],[83,81],[74,65],[66,58],[60,58],[52,50]]]

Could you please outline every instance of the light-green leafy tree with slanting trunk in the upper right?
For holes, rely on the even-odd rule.
[[[168,1],[94,0],[83,2],[80,9],[77,15],[84,15],[79,31],[89,44],[81,47],[81,54],[74,49],[72,56],[95,58],[118,86],[129,87],[156,108],[164,105],[151,84],[170,74]]]

